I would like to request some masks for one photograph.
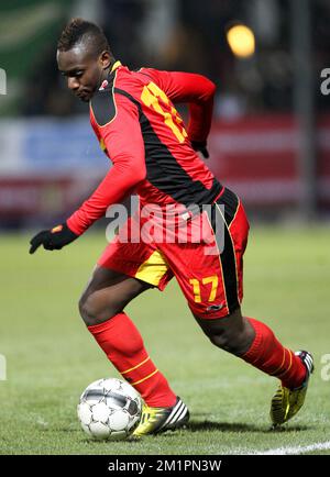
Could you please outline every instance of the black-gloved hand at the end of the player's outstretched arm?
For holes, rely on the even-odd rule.
[[[63,223],[62,225],[54,226],[52,230],[43,230],[34,235],[30,241],[31,247],[29,253],[34,254],[41,245],[43,245],[46,251],[59,251],[76,239],[78,239],[78,235],[76,235],[66,223]]]

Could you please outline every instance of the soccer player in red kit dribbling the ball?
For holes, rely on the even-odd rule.
[[[132,71],[113,57],[102,31],[81,19],[72,20],[63,31],[57,63],[68,88],[89,101],[92,129],[113,165],[65,223],[31,240],[30,253],[40,245],[53,251],[72,243],[109,206],[133,191],[140,198],[141,221],[134,214],[125,226],[131,231],[138,224],[142,232],[150,220],[162,232],[173,232],[172,240],[167,235],[145,240],[141,233],[141,240],[124,241],[121,233],[116,235],[79,302],[89,332],[144,399],[134,434],[177,429],[189,419],[186,404],[157,369],[124,312],[133,298],[151,287],[163,290],[173,276],[211,343],[280,380],[271,402],[271,420],[283,424],[304,403],[312,357],[305,351],[293,353],[266,324],[241,313],[248,219],[241,200],[197,154],[208,156],[215,85],[197,74]],[[187,130],[174,107],[178,102],[189,108]],[[155,213],[146,217],[146,209]],[[161,223],[163,217],[169,217],[167,229]],[[206,235],[198,241],[200,228]],[[186,241],[177,240],[182,230]]]

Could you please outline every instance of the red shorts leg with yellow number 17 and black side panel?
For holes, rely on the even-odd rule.
[[[202,229],[200,241],[162,245],[193,314],[204,320],[233,315],[243,297],[248,219],[232,192],[228,207],[220,206],[191,220],[191,230]]]

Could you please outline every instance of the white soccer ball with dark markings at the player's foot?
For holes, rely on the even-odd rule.
[[[141,419],[142,400],[128,382],[117,378],[91,382],[77,408],[82,430],[97,440],[121,441]]]

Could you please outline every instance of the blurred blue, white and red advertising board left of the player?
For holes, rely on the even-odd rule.
[[[73,211],[109,169],[88,118],[0,121],[0,219],[52,222]]]

